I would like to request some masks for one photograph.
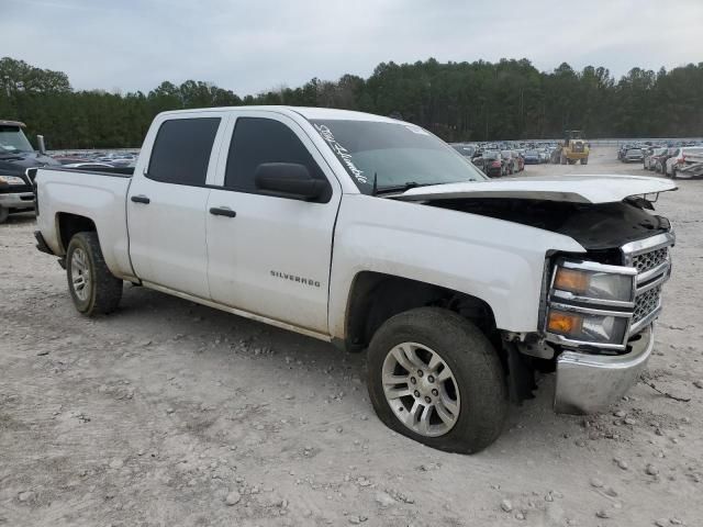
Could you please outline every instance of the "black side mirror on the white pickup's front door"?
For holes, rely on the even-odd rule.
[[[330,189],[326,180],[314,179],[308,167],[297,162],[263,162],[254,172],[256,188],[268,195],[312,201]]]

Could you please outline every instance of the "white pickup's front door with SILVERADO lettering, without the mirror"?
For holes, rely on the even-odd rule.
[[[247,111],[228,125],[217,186],[208,199],[212,299],[252,314],[327,333],[332,237],[342,189],[298,123]],[[304,165],[330,183],[315,202],[267,195],[254,180],[265,162]],[[227,212],[231,211],[231,212]]]

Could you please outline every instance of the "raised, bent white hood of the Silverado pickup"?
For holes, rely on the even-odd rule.
[[[410,189],[397,200],[435,201],[462,198],[505,198],[570,203],[615,203],[631,195],[676,190],[669,180],[639,176],[580,175],[511,178]]]

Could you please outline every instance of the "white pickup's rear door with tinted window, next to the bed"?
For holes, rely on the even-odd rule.
[[[210,299],[205,206],[222,113],[166,115],[140,156],[127,195],[130,256],[138,278]],[[224,126],[223,126],[224,130]],[[211,157],[215,162],[210,162]],[[143,165],[142,165],[143,164]]]

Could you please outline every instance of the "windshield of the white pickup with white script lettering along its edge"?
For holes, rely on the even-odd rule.
[[[311,120],[365,194],[377,189],[483,181],[471,161],[429,132],[406,123]]]

